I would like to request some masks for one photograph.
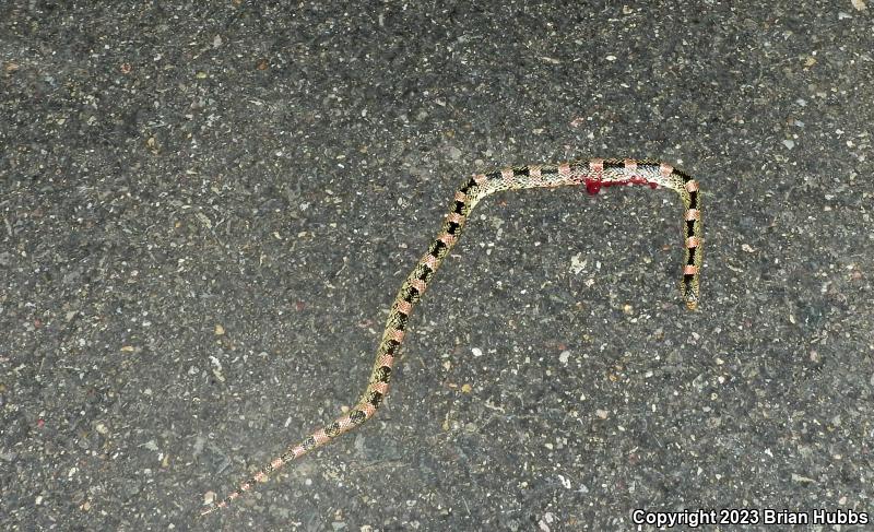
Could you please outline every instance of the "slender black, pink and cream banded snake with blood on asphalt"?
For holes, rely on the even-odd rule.
[[[386,330],[376,353],[376,362],[370,373],[370,381],[357,404],[345,415],[334,419],[307,436],[303,441],[288,446],[285,451],[269,464],[261,468],[237,490],[218,503],[210,505],[201,516],[225,508],[243,493],[257,483],[265,482],[268,476],[300,458],[305,453],[323,446],[343,433],[363,424],[374,416],[389,390],[392,365],[403,342],[410,312],[422,298],[425,288],[449,250],[458,241],[464,224],[473,208],[486,196],[503,190],[529,188],[555,188],[584,185],[590,194],[601,187],[616,185],[649,185],[651,188],[664,187],[680,194],[685,213],[683,215],[683,280],[680,288],[689,310],[698,305],[698,277],[701,270],[701,199],[698,182],[683,172],[665,163],[633,159],[579,161],[559,165],[532,165],[504,168],[487,174],[476,174],[456,192],[450,211],[442,228],[428,247],[428,251],[406,276],[394,303],[391,304]]]

